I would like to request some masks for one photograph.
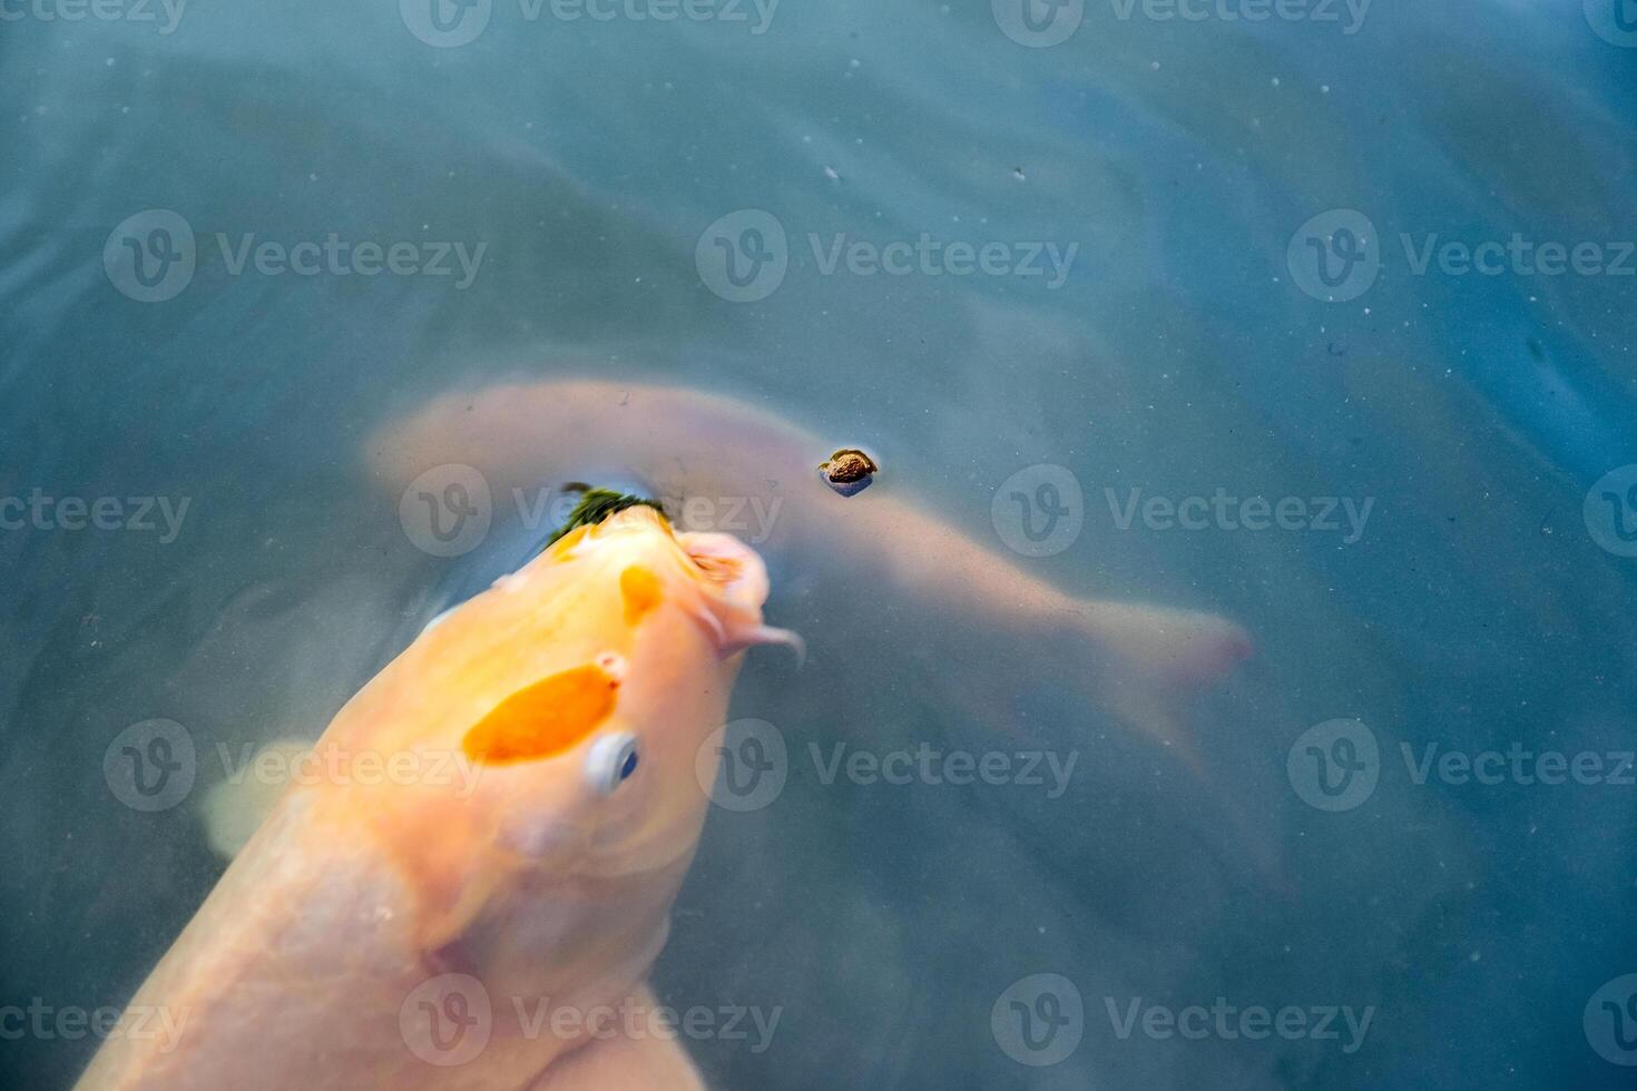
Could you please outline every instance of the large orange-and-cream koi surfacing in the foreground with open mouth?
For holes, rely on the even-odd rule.
[[[175,1034],[108,1040],[80,1088],[701,1086],[643,981],[737,653],[792,640],[766,594],[737,540],[632,507],[453,610],[340,710],[329,775],[133,998]]]

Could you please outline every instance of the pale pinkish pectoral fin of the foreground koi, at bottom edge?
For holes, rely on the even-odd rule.
[[[620,1026],[558,1057],[525,1091],[706,1091],[674,1024],[661,1022],[653,990],[643,985],[629,1003],[640,1012],[640,1027]]]

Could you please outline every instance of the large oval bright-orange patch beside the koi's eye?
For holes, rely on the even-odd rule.
[[[599,662],[527,685],[467,731],[467,757],[489,765],[539,761],[573,749],[614,712],[619,677]]]

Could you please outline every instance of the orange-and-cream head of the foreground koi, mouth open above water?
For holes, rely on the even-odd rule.
[[[457,607],[355,698],[329,734],[473,774],[470,792],[391,785],[352,805],[429,947],[539,962],[663,942],[707,811],[696,757],[740,653],[799,648],[763,625],[766,595],[748,546],[630,507]]]

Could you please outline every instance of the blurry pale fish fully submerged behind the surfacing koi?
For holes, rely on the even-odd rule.
[[[856,425],[845,435],[856,435]],[[958,507],[933,507],[907,487],[837,496],[814,481],[814,466],[828,451],[835,443],[818,433],[720,394],[550,379],[434,399],[373,435],[365,460],[393,497],[419,474],[450,465],[480,473],[496,497],[514,502],[543,483],[637,481],[666,497],[679,525],[742,533],[778,571],[822,589],[827,630],[848,648],[835,648],[833,638],[827,648],[818,631],[820,658],[846,654],[855,669],[876,658],[895,684],[905,662],[902,640],[848,654],[882,628],[881,607],[889,602],[894,612],[915,612],[915,641],[928,659],[961,664],[945,672],[930,700],[976,712],[985,725],[1010,723],[1026,671],[1203,767],[1184,702],[1251,654],[1249,633],[1215,613],[1059,589],[1038,566],[992,548],[997,540],[963,532],[949,519]],[[843,455],[848,450],[830,458]],[[900,486],[943,469],[904,448],[889,468]],[[981,635],[976,644],[974,635]],[[1021,662],[1008,651],[1021,653]]]

